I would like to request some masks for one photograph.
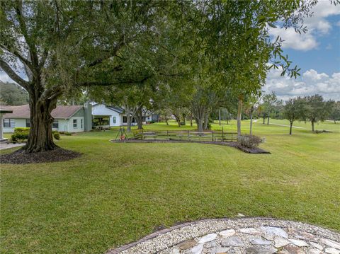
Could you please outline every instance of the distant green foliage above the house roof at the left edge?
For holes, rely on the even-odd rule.
[[[0,81],[0,103],[4,105],[24,105],[28,103],[28,93],[16,83]]]

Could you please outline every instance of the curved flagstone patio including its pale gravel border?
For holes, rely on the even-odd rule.
[[[114,253],[340,254],[340,234],[278,219],[206,219],[152,233],[107,254]]]

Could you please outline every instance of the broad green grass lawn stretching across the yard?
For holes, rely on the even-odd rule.
[[[340,231],[340,125],[318,125],[334,130],[323,134],[297,125],[306,129],[289,136],[288,127],[254,123],[269,155],[207,144],[112,144],[116,130],[62,136],[57,144],[81,158],[1,165],[0,251],[103,253],[158,226],[237,213]],[[174,122],[145,128],[178,129]],[[236,122],[224,128],[235,131]]]

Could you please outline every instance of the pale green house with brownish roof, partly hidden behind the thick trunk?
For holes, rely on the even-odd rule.
[[[14,132],[15,127],[30,127],[29,105],[1,106],[3,110],[11,110],[3,117],[4,132]],[[58,105],[52,110],[55,118],[52,129],[59,132],[84,132],[92,129],[91,105]]]

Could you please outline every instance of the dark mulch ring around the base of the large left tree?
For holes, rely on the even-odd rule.
[[[27,154],[23,149],[19,149],[11,154],[0,155],[0,162],[11,164],[45,163],[68,161],[79,156],[81,156],[81,154],[76,151],[70,151],[62,148],[57,148],[51,151],[41,151],[33,154]]]

